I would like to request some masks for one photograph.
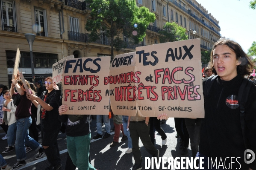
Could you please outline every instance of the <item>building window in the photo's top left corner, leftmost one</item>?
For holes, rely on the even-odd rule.
[[[16,32],[15,1],[1,1],[2,25],[4,31]]]

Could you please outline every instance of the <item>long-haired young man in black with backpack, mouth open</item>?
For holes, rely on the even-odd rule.
[[[204,94],[205,118],[202,121],[197,157],[203,158],[200,163],[204,169],[256,170],[256,86],[251,86],[244,107],[247,144],[242,134],[240,107],[226,102],[230,98],[238,101],[244,75],[251,73],[253,64],[238,43],[221,38],[213,47],[209,66],[218,77],[209,95]],[[207,79],[203,80],[203,86]],[[167,115],[163,113],[158,118],[166,119]],[[246,158],[249,156],[248,150],[251,152],[250,163]]]

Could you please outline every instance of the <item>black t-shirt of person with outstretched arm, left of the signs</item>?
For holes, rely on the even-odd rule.
[[[53,107],[53,109],[51,111],[46,111],[45,118],[42,119],[44,131],[52,131],[61,126],[61,122],[59,121],[59,107],[55,100],[55,92],[55,89],[53,89],[48,95],[48,91],[45,92],[45,95],[47,95],[45,103],[49,104],[51,107]],[[42,92],[41,99],[43,101],[44,97],[44,92]]]

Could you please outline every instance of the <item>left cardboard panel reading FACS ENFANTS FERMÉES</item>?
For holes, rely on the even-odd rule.
[[[108,115],[110,56],[68,59],[63,70],[62,104],[69,115]]]

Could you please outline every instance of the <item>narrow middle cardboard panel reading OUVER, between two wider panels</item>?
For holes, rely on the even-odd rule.
[[[134,109],[136,101],[131,95],[131,91],[136,90],[135,82],[138,81],[138,73],[135,72],[135,55],[136,52],[130,52],[115,56],[110,66],[109,77],[105,77],[104,83],[109,83],[110,104],[115,115],[136,114],[136,109]],[[125,95],[124,100],[123,95]],[[122,109],[120,112],[119,107],[124,105],[131,109]]]

